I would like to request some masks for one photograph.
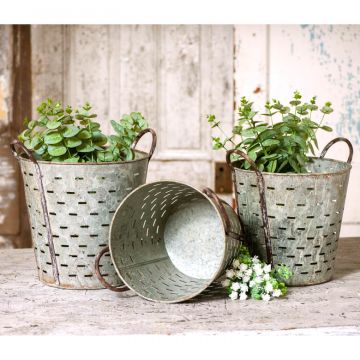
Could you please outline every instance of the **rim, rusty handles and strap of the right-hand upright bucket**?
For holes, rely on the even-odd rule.
[[[329,143],[327,143],[325,145],[324,149],[320,153],[319,159],[323,159],[324,156],[326,155],[327,151],[335,143],[340,142],[340,141],[345,142],[349,147],[348,159],[346,160],[346,162],[332,160],[332,159],[331,160],[340,162],[340,163],[346,163],[349,165],[349,168],[340,170],[340,171],[330,172],[330,173],[329,172],[327,172],[327,173],[326,172],[322,172],[322,173],[268,173],[268,172],[261,172],[258,169],[258,167],[256,166],[255,162],[243,151],[238,150],[238,149],[231,149],[226,152],[226,162],[227,162],[228,166],[230,167],[232,175],[233,175],[233,183],[235,184],[235,191],[236,191],[235,171],[254,172],[256,174],[256,181],[257,181],[257,186],[258,186],[259,196],[260,196],[260,210],[261,210],[261,218],[262,218],[262,222],[263,222],[262,227],[263,227],[263,231],[264,231],[266,258],[267,258],[267,262],[270,263],[272,266],[274,265],[274,259],[273,259],[273,253],[272,253],[272,241],[271,241],[271,237],[270,237],[270,225],[269,225],[269,219],[268,219],[268,215],[267,215],[264,176],[266,177],[266,175],[268,175],[268,176],[275,175],[275,176],[316,176],[316,177],[319,177],[319,176],[328,176],[328,175],[347,173],[351,170],[351,161],[352,161],[353,152],[354,152],[353,146],[348,139],[346,139],[344,137],[337,137],[337,138],[331,140]],[[241,156],[243,159],[245,159],[250,164],[250,167],[252,168],[252,170],[244,170],[244,169],[235,168],[230,159],[232,154],[237,154],[237,155]],[[236,203],[236,208],[238,209],[237,196],[235,196],[235,203]]]

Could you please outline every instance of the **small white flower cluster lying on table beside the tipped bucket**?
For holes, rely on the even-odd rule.
[[[262,264],[257,256],[251,260],[251,265],[247,265],[235,259],[232,268],[226,271],[222,285],[229,290],[230,299],[246,300],[253,288],[264,301],[281,296],[277,281],[270,274],[271,265]]]

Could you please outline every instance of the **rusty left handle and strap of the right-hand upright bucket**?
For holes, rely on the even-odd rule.
[[[232,154],[237,154],[237,155],[241,156],[242,158],[244,158],[250,164],[252,170],[256,174],[256,181],[257,181],[257,186],[258,186],[259,196],[260,196],[260,210],[261,210],[261,217],[262,217],[262,222],[263,222],[263,230],[264,230],[264,238],[265,238],[265,246],[266,246],[266,257],[267,257],[267,262],[270,263],[271,265],[273,265],[270,227],[269,227],[269,219],[267,216],[267,207],[266,207],[266,198],[265,198],[264,177],[263,177],[261,171],[257,168],[255,162],[253,160],[251,160],[247,154],[245,154],[241,150],[237,150],[237,149],[228,150],[226,152],[226,162],[230,166],[230,169],[233,172],[235,188],[236,188],[235,169],[234,169],[234,166],[231,163],[231,159],[230,159],[230,156]],[[235,198],[236,198],[236,194],[235,194]]]

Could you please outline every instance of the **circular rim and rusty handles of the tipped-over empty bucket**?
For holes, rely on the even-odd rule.
[[[188,185],[188,184],[185,184],[185,183],[182,183],[182,182],[179,182],[179,181],[174,181],[174,180],[162,180],[162,181],[156,181],[156,182],[153,182],[153,183],[148,183],[148,184],[144,184],[144,185],[141,185],[139,186],[138,188],[134,189],[131,193],[129,193],[124,199],[123,201],[119,204],[114,216],[113,216],[113,220],[111,221],[111,224],[110,224],[110,231],[109,231],[109,245],[104,248],[103,250],[101,250],[101,252],[98,254],[98,256],[96,257],[95,259],[95,272],[99,278],[99,281],[109,290],[112,290],[112,291],[115,291],[115,292],[123,292],[123,291],[128,291],[128,290],[132,290],[134,291],[138,296],[146,299],[146,300],[149,300],[149,301],[153,301],[153,302],[160,302],[160,303],[179,303],[179,302],[183,302],[183,301],[186,301],[186,300],[190,300],[192,298],[194,298],[195,296],[199,295],[200,293],[202,293],[206,288],[208,288],[217,278],[219,278],[219,276],[221,274],[219,274],[221,272],[221,266],[219,267],[219,269],[213,274],[213,276],[211,278],[208,279],[208,281],[206,281],[205,285],[202,287],[202,288],[199,288],[196,292],[192,293],[191,296],[184,296],[183,298],[179,298],[179,299],[176,299],[176,300],[154,300],[154,299],[151,299],[149,297],[146,297],[140,293],[137,292],[137,290],[135,290],[131,285],[129,285],[125,280],[124,278],[121,276],[121,272],[119,271],[118,269],[118,266],[116,264],[116,262],[114,261],[114,256],[113,256],[113,252],[112,252],[112,246],[111,246],[111,243],[112,243],[112,228],[113,228],[113,225],[114,225],[114,220],[116,218],[116,215],[119,211],[121,211],[121,207],[125,204],[125,202],[136,192],[136,191],[139,191],[141,190],[142,188],[144,187],[147,187],[149,185],[152,185],[154,183],[161,183],[161,182],[171,182],[171,183],[174,183],[174,184],[179,184],[179,185],[185,185],[193,190],[195,190],[196,192],[198,192],[199,194],[201,194],[205,199],[207,199],[209,201],[209,203],[212,205],[213,209],[216,211],[216,214],[218,215],[218,217],[220,218],[221,220],[221,223],[223,224],[222,226],[222,236],[223,236],[223,240],[224,242],[226,241],[226,237],[227,236],[230,236],[238,241],[240,241],[241,239],[241,236],[240,234],[236,234],[232,231],[230,231],[230,220],[229,220],[229,217],[226,213],[226,210],[223,206],[223,203],[227,204],[226,201],[220,199],[216,193],[211,190],[210,188],[207,188],[205,187],[203,189],[203,191],[200,191],[199,189],[195,188],[194,186],[191,186],[191,185]],[[227,204],[228,206],[230,206],[229,204]],[[122,287],[114,287],[110,284],[108,284],[106,282],[106,280],[102,277],[102,275],[100,274],[100,268],[99,268],[99,263],[100,263],[100,259],[102,258],[103,255],[105,255],[106,253],[110,253],[110,256],[111,256],[111,259],[112,259],[112,262],[114,264],[114,267],[115,267],[115,270],[117,272],[117,274],[119,275],[120,279],[123,281],[123,283],[125,284],[125,286],[122,286]],[[223,248],[223,253],[222,253],[222,256],[221,256],[221,261],[220,261],[220,264],[223,264],[224,263],[224,260],[226,258],[226,246]]]

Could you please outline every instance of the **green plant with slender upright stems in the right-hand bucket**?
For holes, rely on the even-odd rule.
[[[318,129],[332,131],[323,125],[324,117],[333,112],[330,102],[320,109],[314,96],[309,102],[302,102],[298,91],[294,92],[289,105],[283,105],[279,100],[266,102],[265,112],[261,114],[269,122],[259,120],[258,112],[253,103],[245,97],[241,99],[238,108],[239,118],[235,123],[231,136],[223,131],[220,121],[215,115],[207,119],[212,128],[218,128],[224,138],[213,137],[215,150],[235,148],[245,152],[260,171],[272,173],[306,172],[306,163],[310,161],[308,154],[315,155],[318,148],[316,132]],[[317,111],[322,113],[319,122],[313,120]],[[276,121],[276,119],[279,121]],[[234,155],[235,156],[235,155]],[[241,160],[239,167],[249,169],[250,164]]]

